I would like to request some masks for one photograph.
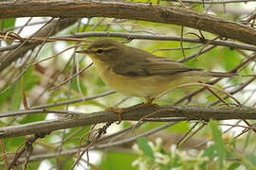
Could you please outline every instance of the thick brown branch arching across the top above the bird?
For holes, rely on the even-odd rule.
[[[91,1],[15,1],[0,3],[0,18],[14,17],[111,17],[188,26],[256,45],[256,31],[239,23],[187,8],[145,3]]]

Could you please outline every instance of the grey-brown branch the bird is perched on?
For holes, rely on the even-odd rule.
[[[61,110],[58,110],[59,112]],[[39,110],[39,113],[42,110]],[[151,116],[148,116],[151,114]],[[72,115],[72,114],[71,114]],[[138,121],[146,116],[144,121],[174,121],[174,120],[229,120],[229,119],[256,119],[256,109],[249,107],[194,107],[194,106],[164,106],[139,107],[121,113],[124,121]],[[18,137],[34,133],[48,133],[53,130],[82,127],[94,124],[118,121],[119,116],[112,111],[73,114],[61,119],[40,121],[25,125],[0,127],[0,139]]]

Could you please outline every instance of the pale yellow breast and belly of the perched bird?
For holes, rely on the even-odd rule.
[[[99,60],[94,60],[94,63],[101,79],[107,86],[129,96],[154,98],[170,88],[182,84],[182,77],[177,81],[174,76],[172,78],[166,76],[121,76]]]

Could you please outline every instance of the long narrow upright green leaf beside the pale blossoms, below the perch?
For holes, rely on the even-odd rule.
[[[218,160],[220,163],[219,166],[221,169],[223,167],[223,160],[225,157],[225,150],[226,150],[225,144],[224,144],[224,141],[222,140],[221,130],[218,128],[217,122],[210,120],[210,128],[211,128],[212,138],[216,146]]]

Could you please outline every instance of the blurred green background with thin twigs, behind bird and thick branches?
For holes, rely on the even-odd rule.
[[[225,3],[226,1],[228,3]],[[209,13],[253,28],[255,26],[255,2],[182,2],[186,8],[200,13]],[[181,6],[179,1],[171,0],[151,3],[167,7]],[[248,20],[249,18],[251,19]],[[246,59],[250,59],[255,51],[253,45],[235,42],[240,46],[247,45],[247,48],[230,47],[229,44],[234,41],[220,39],[216,35],[190,27],[139,20],[30,17],[2,19],[0,23],[0,60],[6,64],[0,66],[0,110],[3,113],[27,110],[26,103],[30,109],[91,113],[109,107],[131,107],[143,102],[143,98],[113,93],[101,81],[96,68],[93,65],[88,67],[91,59],[74,53],[75,50],[85,49],[92,40],[107,37],[106,32],[109,33],[110,39],[125,42],[126,45],[135,46],[156,56],[174,59],[185,65],[209,71],[229,72]],[[199,38],[210,42],[187,41],[196,41]],[[30,42],[22,44],[26,41]],[[224,43],[219,45],[214,42]],[[255,74],[254,61],[251,58],[243,65],[238,70],[239,75]],[[80,71],[82,72],[79,73]],[[255,107],[254,79],[254,76],[223,78],[214,83],[214,86],[231,93],[243,106]],[[192,86],[174,89],[161,96],[155,103],[160,106],[224,106],[224,103],[209,91],[198,91],[201,88]],[[226,97],[225,93],[216,93],[223,98]],[[24,99],[24,96],[27,99]],[[236,104],[229,97],[225,99],[230,105]],[[64,115],[56,113],[37,113],[4,117],[0,119],[0,127],[54,120],[62,116]],[[250,121],[250,124],[254,122]],[[101,142],[93,144],[91,150],[82,155],[74,169],[167,170],[256,167],[255,133],[243,121],[210,121],[210,124],[202,121],[143,122],[134,129],[133,126],[136,124],[137,122],[123,121],[120,125],[113,124],[108,127],[106,134],[101,136]],[[77,152],[80,145],[86,146],[93,140],[94,133],[90,133],[89,136],[86,133],[103,125],[52,131],[45,138],[35,141],[32,151],[29,154],[22,154],[20,158],[23,160],[17,161],[16,167],[40,170],[70,169],[79,158]],[[13,160],[19,148],[24,147],[26,139],[27,136],[1,141],[0,169],[5,167],[4,153],[7,153],[9,161]],[[27,160],[25,166],[27,157],[30,160]]]

